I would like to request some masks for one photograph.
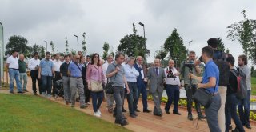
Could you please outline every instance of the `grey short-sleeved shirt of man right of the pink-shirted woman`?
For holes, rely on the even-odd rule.
[[[110,80],[114,81],[113,86],[124,86],[123,76],[125,75],[125,69],[122,65],[118,65],[116,62],[113,62],[107,67],[106,74],[110,74],[115,70],[115,67],[119,66],[120,70],[117,74],[114,74]]]

